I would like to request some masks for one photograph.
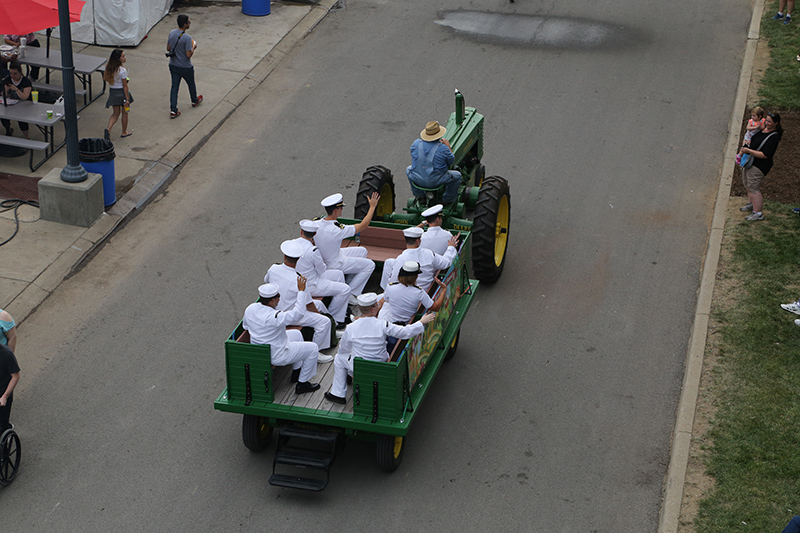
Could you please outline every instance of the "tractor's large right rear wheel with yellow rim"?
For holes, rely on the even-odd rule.
[[[493,283],[503,273],[510,222],[508,182],[499,176],[489,176],[478,192],[472,222],[472,270],[480,281]]]

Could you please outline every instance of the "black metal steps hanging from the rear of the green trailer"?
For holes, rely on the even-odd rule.
[[[325,489],[343,439],[341,431],[331,428],[300,425],[280,428],[269,484],[312,491]]]

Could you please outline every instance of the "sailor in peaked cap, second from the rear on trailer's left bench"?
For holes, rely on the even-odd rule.
[[[303,313],[300,313],[297,320],[291,325],[293,326],[310,326],[314,328],[314,343],[320,350],[327,350],[331,347],[331,320],[320,314],[320,311],[327,312],[322,302],[312,300],[311,295],[307,292],[302,294],[297,291],[296,283],[300,274],[295,270],[297,259],[302,255],[302,248],[300,245],[292,241],[284,241],[281,244],[281,252],[283,252],[283,263],[276,263],[269,267],[267,274],[264,276],[264,283],[274,283],[280,287],[281,300],[278,303],[278,311],[288,311],[295,306],[298,299],[300,302]],[[318,360],[320,363],[329,363],[333,360],[333,356],[319,354]]]

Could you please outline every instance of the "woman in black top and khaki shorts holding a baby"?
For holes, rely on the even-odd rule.
[[[761,213],[764,197],[759,189],[761,182],[764,181],[764,176],[772,168],[772,158],[775,156],[775,150],[778,149],[778,143],[781,142],[782,136],[781,116],[776,113],[767,113],[764,118],[764,129],[753,135],[749,146],[743,146],[739,150],[740,154],[748,154],[753,157],[753,165],[750,168],[742,169],[742,184],[750,202],[741,210],[753,212],[745,218],[747,221],[764,220],[764,215]],[[756,148],[753,149],[753,146]]]

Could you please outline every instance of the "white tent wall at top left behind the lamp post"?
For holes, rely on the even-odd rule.
[[[72,40],[102,46],[136,46],[169,13],[172,0],[87,0]],[[53,30],[58,37],[58,28]]]

